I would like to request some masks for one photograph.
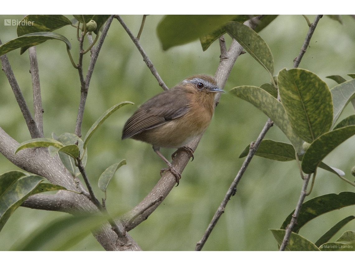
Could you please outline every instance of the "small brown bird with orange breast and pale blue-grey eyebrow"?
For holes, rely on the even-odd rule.
[[[217,87],[215,79],[208,75],[195,75],[184,79],[170,90],[159,93],[144,102],[127,120],[122,139],[132,138],[153,145],[153,150],[164,160],[179,184],[181,174],[160,153],[160,147],[185,150],[193,160],[193,150],[185,146],[202,134],[211,122]]]

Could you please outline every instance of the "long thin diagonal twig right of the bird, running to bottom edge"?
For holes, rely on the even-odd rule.
[[[259,147],[261,141],[263,140],[265,134],[267,133],[269,128],[272,127],[272,125],[273,125],[273,122],[269,118],[267,120],[265,126],[263,127],[262,131],[260,132],[259,137],[255,141],[255,143],[252,143],[250,145],[249,154],[245,158],[242,167],[240,168],[238,174],[236,175],[236,177],[234,178],[233,182],[231,183],[227,194],[224,196],[224,199],[223,199],[222,203],[220,204],[220,206],[218,207],[218,210],[214,214],[214,216],[212,218],[212,221],[209,223],[206,232],[203,234],[201,240],[199,242],[197,242],[195,251],[200,251],[202,249],[203,245],[206,243],[209,234],[211,234],[214,226],[218,222],[218,219],[223,214],[225,206],[227,205],[227,203],[230,200],[231,196],[235,195],[237,184],[239,183],[240,179],[242,178],[243,173],[245,172],[245,170],[248,167],[251,159],[253,158],[254,154],[256,153],[256,150],[258,149],[258,147]]]

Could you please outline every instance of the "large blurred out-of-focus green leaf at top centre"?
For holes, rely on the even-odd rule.
[[[159,22],[157,34],[163,49],[190,43],[217,31],[236,15],[166,15]]]

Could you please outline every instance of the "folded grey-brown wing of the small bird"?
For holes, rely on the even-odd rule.
[[[189,110],[189,100],[180,90],[166,91],[146,101],[127,120],[122,139],[130,138],[144,130],[158,127],[167,121],[185,115]]]

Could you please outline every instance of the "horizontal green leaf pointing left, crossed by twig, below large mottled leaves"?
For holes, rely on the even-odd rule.
[[[248,155],[249,147],[250,145],[244,149],[244,151],[239,155],[239,158]],[[291,144],[277,142],[271,139],[262,140],[255,155],[281,162],[296,160],[295,149]]]

